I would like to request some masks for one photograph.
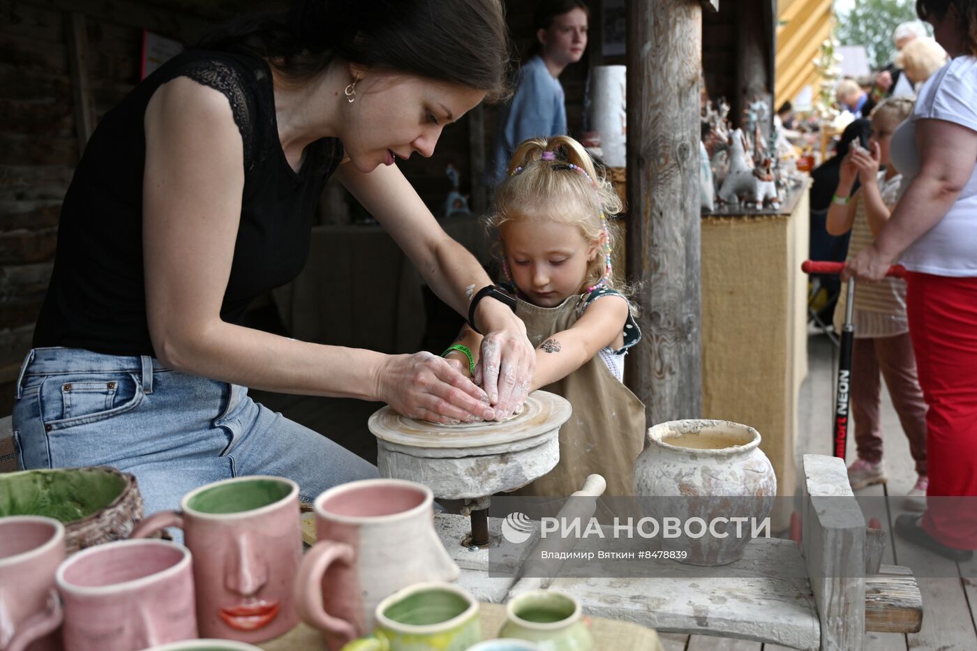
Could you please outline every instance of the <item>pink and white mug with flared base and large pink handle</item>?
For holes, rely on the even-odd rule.
[[[316,544],[302,560],[295,606],[330,649],[368,633],[377,604],[461,570],[434,530],[431,489],[402,479],[341,484],[316,499]]]

